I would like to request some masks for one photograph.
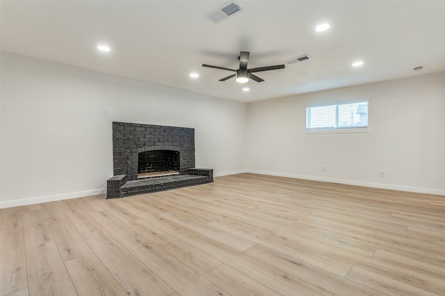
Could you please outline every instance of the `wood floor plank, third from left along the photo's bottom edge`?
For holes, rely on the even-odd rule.
[[[127,295],[95,254],[65,262],[79,296]]]

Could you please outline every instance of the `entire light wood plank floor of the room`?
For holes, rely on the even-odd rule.
[[[257,174],[1,210],[3,295],[445,295],[445,197]]]

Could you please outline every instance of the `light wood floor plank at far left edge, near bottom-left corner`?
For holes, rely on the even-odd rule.
[[[0,295],[28,288],[23,229],[1,231]]]

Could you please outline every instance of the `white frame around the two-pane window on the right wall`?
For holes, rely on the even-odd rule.
[[[318,104],[312,106],[306,106],[305,108],[305,131],[306,133],[367,133],[371,129],[369,128],[369,99],[359,99],[354,101],[339,101],[325,104]],[[368,106],[368,124],[367,126],[348,126],[348,127],[339,127],[339,106],[348,105],[348,104],[360,104],[366,103]],[[335,126],[333,128],[329,127],[321,127],[321,128],[313,128],[307,129],[307,122],[310,120],[310,113],[308,112],[309,108],[323,107],[323,106],[335,106]]]

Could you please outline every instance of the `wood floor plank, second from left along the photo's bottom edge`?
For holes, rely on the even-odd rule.
[[[26,247],[26,266],[30,295],[77,295],[55,242]]]

